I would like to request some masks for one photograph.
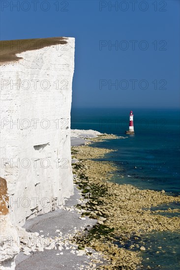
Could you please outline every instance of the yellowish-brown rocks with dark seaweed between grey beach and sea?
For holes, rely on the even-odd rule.
[[[119,248],[114,244],[117,237],[123,242],[124,238],[132,235],[138,237],[152,230],[180,229],[179,217],[153,215],[153,211],[144,210],[162,203],[180,202],[180,196],[108,182],[109,173],[115,171],[116,167],[110,162],[90,159],[102,157],[111,151],[87,145],[72,147],[72,155],[79,160],[73,165],[77,175],[75,182],[87,200],[84,206],[77,207],[83,207],[85,216],[98,220],[89,234],[80,233],[75,241],[80,247],[90,246],[103,254],[109,264],[100,269],[133,270],[141,264],[140,251]]]

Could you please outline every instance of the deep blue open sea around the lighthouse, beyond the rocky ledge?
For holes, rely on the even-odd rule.
[[[93,144],[118,150],[105,158],[115,162],[119,168],[119,173],[113,174],[113,181],[132,184],[140,189],[164,189],[178,194],[180,111],[134,109],[135,135],[125,135],[130,109],[72,109],[71,128],[126,136],[125,139]]]

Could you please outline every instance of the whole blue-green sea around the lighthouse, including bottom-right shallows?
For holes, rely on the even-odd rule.
[[[125,135],[130,110],[134,114],[135,134]],[[114,162],[118,168],[112,172],[111,181],[180,195],[179,109],[72,108],[71,129],[91,129],[124,137],[92,144],[117,150],[101,159]],[[180,209],[180,204],[163,204],[156,209],[168,208]],[[177,211],[169,216],[180,216],[180,213]],[[133,239],[123,247],[128,249],[132,243],[136,246]],[[136,241],[145,243],[146,251],[141,252],[144,269],[180,269],[180,231],[151,232]]]

